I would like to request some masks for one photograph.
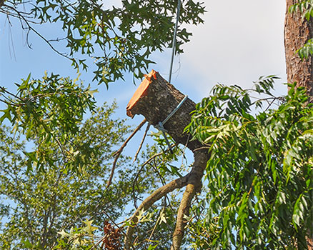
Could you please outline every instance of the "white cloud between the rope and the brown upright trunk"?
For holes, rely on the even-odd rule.
[[[277,74],[286,81],[284,0],[204,0],[204,25],[190,26],[194,36],[184,46],[178,81],[199,96],[217,82],[252,85],[259,76]],[[177,59],[174,66],[178,68]],[[278,86],[279,94],[286,87]]]

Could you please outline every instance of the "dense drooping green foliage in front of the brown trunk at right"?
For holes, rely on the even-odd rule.
[[[254,114],[262,102],[277,102],[270,94],[273,81],[261,78],[252,90],[218,85],[197,104],[187,131],[208,146],[211,157],[205,174],[209,209],[194,230],[214,232],[211,239],[196,239],[197,249],[307,249],[312,104],[303,88],[289,84],[277,109]],[[251,93],[269,97],[253,102]]]

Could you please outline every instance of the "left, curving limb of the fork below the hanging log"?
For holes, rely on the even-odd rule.
[[[159,201],[159,199],[162,199],[165,195],[169,194],[169,192],[174,191],[174,189],[181,189],[183,186],[187,185],[187,181],[189,178],[189,174],[186,176],[183,176],[179,179],[176,179],[174,181],[169,182],[169,184],[166,184],[159,189],[156,189],[150,196],[148,196],[136,209],[134,214],[130,218],[130,224],[126,231],[126,237],[124,239],[124,249],[129,250],[131,249],[132,245],[132,236],[134,234],[134,229],[136,224],[138,223],[138,215],[140,211],[146,211],[149,209],[156,201]]]

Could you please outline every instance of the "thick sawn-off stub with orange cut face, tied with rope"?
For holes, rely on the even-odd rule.
[[[133,118],[136,114],[143,115],[150,124],[156,126],[177,108],[184,99],[184,94],[169,84],[160,74],[152,70],[145,76],[126,107],[126,114]],[[190,141],[184,128],[190,123],[196,104],[191,99],[179,107],[175,114],[164,124],[164,129],[177,144],[187,145],[194,151],[202,146],[199,141]]]

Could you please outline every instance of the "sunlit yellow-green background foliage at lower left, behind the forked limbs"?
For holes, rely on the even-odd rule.
[[[81,169],[74,173],[67,167],[57,142],[40,143],[40,137],[33,139],[34,149],[41,145],[42,151],[51,151],[46,157],[55,161],[52,166],[42,162],[44,171],[27,171],[28,156],[23,152],[30,145],[21,140],[19,136],[23,137],[23,134],[19,131],[12,134],[14,131],[2,126],[1,249],[102,249],[102,246],[105,249],[112,244],[121,244],[117,234],[114,235],[119,239],[108,236],[116,231],[104,231],[108,226],[106,220],[116,221],[128,215],[130,211],[125,210],[125,206],[131,202],[136,206],[147,192],[159,186],[159,179],[164,183],[175,174],[164,169],[170,169],[177,156],[156,154],[159,146],[149,146],[136,162],[139,168],[129,164],[129,158],[121,156],[115,181],[107,188],[114,149],[129,131],[124,120],[111,118],[115,109],[115,104],[95,108],[89,119],[76,124],[78,131],[71,134],[71,145],[79,147],[91,141],[89,146],[94,151],[84,155],[88,161],[79,162]],[[141,161],[146,164],[142,165]],[[176,206],[177,197],[173,195],[142,214],[143,226],[138,232],[137,249],[170,245],[171,236],[167,231],[174,227],[173,207]],[[85,221],[84,226],[81,221]]]

